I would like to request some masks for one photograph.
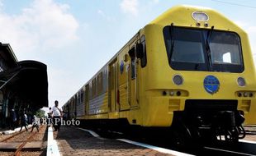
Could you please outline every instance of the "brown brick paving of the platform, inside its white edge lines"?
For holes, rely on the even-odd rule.
[[[164,156],[171,154],[160,153],[153,149],[146,149],[137,145],[130,145],[119,140],[108,140],[93,137],[86,131],[75,127],[62,126],[60,131],[54,132],[60,155],[148,155]]]

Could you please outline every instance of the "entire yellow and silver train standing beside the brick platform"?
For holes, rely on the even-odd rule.
[[[256,123],[255,91],[244,30],[210,8],[177,6],[139,30],[63,108],[81,121],[237,141],[242,124]]]

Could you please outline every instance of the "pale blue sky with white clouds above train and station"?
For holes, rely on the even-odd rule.
[[[49,104],[62,106],[140,28],[180,4],[211,7],[242,27],[256,62],[255,0],[0,0],[0,42],[18,61],[47,65]]]

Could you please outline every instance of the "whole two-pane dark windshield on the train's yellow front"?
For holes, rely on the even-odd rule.
[[[182,71],[244,71],[239,36],[232,32],[164,27],[168,62]]]

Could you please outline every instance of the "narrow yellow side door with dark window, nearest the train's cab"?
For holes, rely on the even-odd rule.
[[[130,48],[129,54],[130,54],[130,67],[129,67],[129,78],[128,78],[129,103],[130,103],[130,108],[137,108],[139,106],[138,76],[140,74],[138,73],[139,67],[138,67],[137,59],[135,57],[135,46]]]

